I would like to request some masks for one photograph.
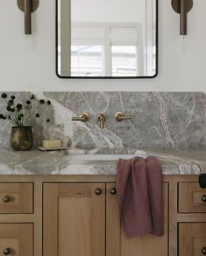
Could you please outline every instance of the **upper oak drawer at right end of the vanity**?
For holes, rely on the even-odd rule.
[[[206,212],[206,189],[198,182],[179,182],[179,212]]]

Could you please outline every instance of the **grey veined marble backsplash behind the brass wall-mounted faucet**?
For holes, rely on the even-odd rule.
[[[11,95],[11,93],[8,93]],[[60,139],[63,146],[91,147],[205,147],[206,92],[18,92],[18,101],[34,94],[45,98],[49,108],[40,108],[36,120],[31,111],[34,144],[42,139]],[[4,100],[0,112],[4,113]],[[88,123],[72,122],[71,117],[88,112]],[[117,122],[118,111],[131,115],[131,121]],[[107,114],[100,129],[96,115]],[[0,120],[0,147],[10,147],[11,124]]]

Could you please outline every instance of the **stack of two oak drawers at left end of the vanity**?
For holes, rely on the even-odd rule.
[[[1,256],[34,256],[32,213],[32,182],[0,182]]]

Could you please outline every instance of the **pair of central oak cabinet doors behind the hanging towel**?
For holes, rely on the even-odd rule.
[[[167,256],[167,188],[164,236],[127,239],[115,183],[45,183],[44,256]]]

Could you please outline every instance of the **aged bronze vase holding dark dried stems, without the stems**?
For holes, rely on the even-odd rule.
[[[33,146],[32,126],[11,127],[11,147],[25,151]]]

